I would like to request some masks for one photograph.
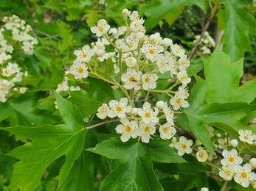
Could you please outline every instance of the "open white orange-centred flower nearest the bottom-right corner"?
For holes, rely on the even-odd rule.
[[[249,187],[249,181],[256,180],[256,174],[252,173],[252,166],[250,164],[244,164],[243,167],[241,165],[235,165],[235,182],[241,184],[243,187]]]

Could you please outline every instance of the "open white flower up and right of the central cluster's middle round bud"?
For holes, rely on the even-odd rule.
[[[140,50],[142,53],[146,54],[146,58],[148,60],[155,62],[159,57],[159,53],[164,51],[164,47],[160,45],[145,44],[140,48]]]

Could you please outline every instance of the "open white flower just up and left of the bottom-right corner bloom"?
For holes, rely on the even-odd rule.
[[[232,149],[231,151],[222,151],[224,159],[221,159],[221,165],[233,167],[234,165],[240,165],[243,159],[238,156],[238,151]]]

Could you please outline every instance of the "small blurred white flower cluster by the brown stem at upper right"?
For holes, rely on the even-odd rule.
[[[199,40],[200,36],[196,35],[194,43]],[[199,42],[199,48],[203,54],[211,54],[210,48],[216,46],[215,40],[209,35],[209,32],[204,32],[204,36],[201,38]]]

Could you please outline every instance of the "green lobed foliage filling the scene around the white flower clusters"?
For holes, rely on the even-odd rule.
[[[84,129],[100,120],[84,123],[83,118],[102,103],[122,97],[109,84],[89,78],[83,84],[87,93],[75,92],[68,99],[63,98],[65,93],[53,93],[63,80],[63,68],[75,60],[73,51],[96,40],[90,27],[100,18],[120,26],[123,8],[138,10],[148,33],[159,32],[190,52],[193,37],[200,35],[210,15],[209,2],[215,1],[105,2],[0,1],[0,18],[18,15],[32,26],[39,41],[33,56],[15,53],[19,55],[15,62],[30,71],[21,82],[29,90],[0,104],[0,190],[219,190],[221,184],[207,178],[209,167],[192,156],[182,158],[167,147],[168,142],[156,138],[150,144],[121,143],[114,130],[117,123]],[[220,0],[209,29],[211,35],[217,25],[224,29],[224,50],[217,47],[210,57],[190,60],[188,73],[194,79],[190,107],[176,125],[192,131],[211,152],[205,124],[238,137],[238,129],[256,115],[256,80],[240,84],[243,65],[252,75],[256,71],[255,12],[252,1]],[[249,151],[255,156],[255,148]]]

